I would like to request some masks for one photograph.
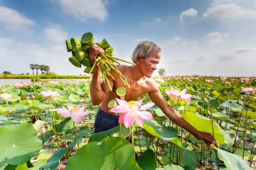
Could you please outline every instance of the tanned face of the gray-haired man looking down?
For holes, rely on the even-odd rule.
[[[156,65],[160,61],[159,55],[150,55],[145,60],[139,60],[139,68],[141,72],[148,78],[152,77],[152,74],[157,69]]]

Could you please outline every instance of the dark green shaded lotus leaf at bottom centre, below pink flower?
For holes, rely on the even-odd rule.
[[[144,154],[138,158],[137,163],[141,169],[154,170],[156,168],[156,154],[152,149],[147,149]]]

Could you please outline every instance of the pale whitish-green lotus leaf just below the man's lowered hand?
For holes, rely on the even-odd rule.
[[[231,154],[222,149],[216,148],[213,144],[210,146],[212,149],[217,151],[218,158],[225,163],[227,169],[251,170],[251,168],[245,163],[241,156]]]

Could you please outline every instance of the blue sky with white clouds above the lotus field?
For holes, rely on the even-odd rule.
[[[255,30],[256,0],[0,0],[0,72],[85,74],[65,40],[92,32],[129,61],[137,41],[156,42],[167,75],[254,76]]]

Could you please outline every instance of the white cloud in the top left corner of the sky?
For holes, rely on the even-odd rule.
[[[28,33],[31,26],[35,25],[35,21],[27,18],[15,9],[0,6],[0,23],[11,32]]]

